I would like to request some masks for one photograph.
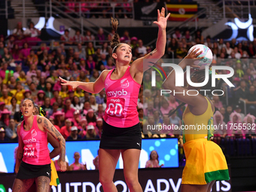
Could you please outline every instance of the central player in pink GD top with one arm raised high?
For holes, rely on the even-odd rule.
[[[158,10],[157,21],[159,27],[157,47],[148,55],[136,59],[130,66],[132,48],[129,44],[120,43],[117,34],[118,21],[112,19],[115,30],[111,41],[112,57],[115,69],[105,70],[95,82],[66,81],[59,78],[62,85],[80,87],[89,93],[99,93],[103,88],[107,95],[102,138],[99,145],[99,181],[105,192],[117,192],[113,182],[115,167],[122,154],[123,173],[131,192],[142,192],[138,180],[139,155],[142,149],[142,134],[139,125],[139,114],[136,106],[139,87],[142,84],[143,59],[157,62],[165,53],[166,23],[165,9]]]

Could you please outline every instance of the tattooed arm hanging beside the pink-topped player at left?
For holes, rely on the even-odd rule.
[[[59,167],[61,171],[66,171],[66,141],[63,138],[63,136],[59,133],[58,130],[56,130],[55,126],[53,126],[52,123],[50,123],[50,120],[48,120],[45,117],[38,116],[37,117],[38,126],[41,126],[44,130],[46,130],[48,133],[50,133],[56,140],[59,141],[60,146],[60,155],[59,155]]]

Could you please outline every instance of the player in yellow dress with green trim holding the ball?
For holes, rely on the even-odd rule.
[[[198,50],[194,49],[191,51],[178,66],[182,69],[185,69],[186,66],[199,69],[199,66],[194,65],[195,60],[202,59],[197,58],[201,53],[197,53]],[[203,126],[207,127],[207,125],[209,125],[208,127],[212,127],[214,105],[206,96],[201,94],[189,96],[187,94],[187,90],[191,90],[190,95],[196,95],[196,92],[194,91],[195,93],[193,93],[192,90],[210,90],[212,77],[211,71],[209,72],[209,82],[204,87],[191,87],[190,85],[187,88],[175,87],[174,71],[163,82],[163,87],[166,90],[173,90],[175,93],[178,93],[175,94],[175,98],[183,102],[178,108],[187,104],[182,118],[183,125],[181,126],[183,129],[183,147],[186,156],[186,165],[182,174],[181,192],[210,192],[215,181],[229,180],[227,161],[224,154],[221,148],[215,142],[211,141],[213,137],[212,130],[202,128]],[[204,79],[205,70],[195,70],[191,75],[191,81],[194,83],[203,82]],[[181,94],[183,92],[184,94]],[[199,93],[204,94],[204,92]],[[170,112],[169,115],[175,111]],[[198,129],[198,125],[201,126],[201,130]]]

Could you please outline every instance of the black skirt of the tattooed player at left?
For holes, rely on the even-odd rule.
[[[20,169],[16,178],[19,179],[29,179],[29,178],[38,178],[40,176],[46,176],[50,178],[50,164],[35,166],[25,162],[20,163]]]

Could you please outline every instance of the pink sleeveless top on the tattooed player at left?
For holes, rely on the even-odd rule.
[[[23,139],[23,162],[32,165],[50,164],[50,153],[47,147],[47,132],[39,130],[34,116],[32,128],[29,131],[24,130],[24,120],[20,126],[20,136]]]

